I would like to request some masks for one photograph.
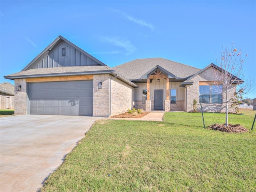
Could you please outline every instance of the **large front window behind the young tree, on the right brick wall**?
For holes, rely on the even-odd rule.
[[[222,85],[200,85],[201,103],[222,103]]]

